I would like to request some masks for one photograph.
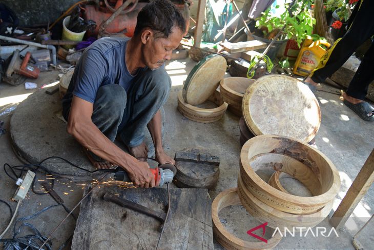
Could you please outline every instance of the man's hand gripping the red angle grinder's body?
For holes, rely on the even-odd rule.
[[[149,170],[149,165],[147,162],[138,161],[137,166],[132,167],[131,172],[128,171],[128,175],[135,186],[149,188],[154,187],[155,177]]]

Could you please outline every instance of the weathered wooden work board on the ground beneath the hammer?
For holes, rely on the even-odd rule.
[[[85,189],[85,194],[89,189]],[[166,211],[166,188],[101,186],[82,202],[71,249],[155,249],[160,222],[102,199],[105,193]],[[206,189],[171,188],[171,210],[159,249],[213,249],[211,199]]]

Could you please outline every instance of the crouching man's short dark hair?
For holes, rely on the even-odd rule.
[[[176,26],[185,31],[185,20],[175,5],[169,0],[155,0],[142,8],[138,14],[134,36],[144,28],[155,31],[155,37],[167,38]]]

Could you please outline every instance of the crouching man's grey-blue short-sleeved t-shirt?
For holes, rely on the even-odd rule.
[[[95,102],[99,87],[119,84],[129,90],[135,75],[126,67],[125,53],[129,38],[103,37],[91,44],[80,57],[63,99],[64,116],[70,109],[73,95]],[[147,68],[140,68],[136,74]]]

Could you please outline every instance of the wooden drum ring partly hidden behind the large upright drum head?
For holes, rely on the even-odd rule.
[[[220,82],[220,91],[223,101],[228,103],[228,110],[242,116],[242,101],[245,90],[251,86],[255,80],[241,77],[224,78]]]

